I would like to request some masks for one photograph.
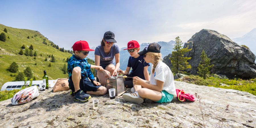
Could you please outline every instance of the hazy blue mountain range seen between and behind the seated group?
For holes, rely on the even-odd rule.
[[[164,58],[166,55],[172,53],[175,41],[173,40],[169,42],[160,41],[157,43],[162,46],[161,53],[162,53],[162,58]],[[147,44],[148,43],[140,44],[140,48],[141,48],[140,51],[142,51]],[[95,47],[92,47],[91,49],[95,49]],[[120,49],[120,69],[125,70],[128,64],[128,59],[130,57],[130,54],[128,53],[127,50],[123,50],[123,49],[126,49],[126,47]],[[87,57],[94,60],[94,51],[91,51]],[[148,68],[148,71],[150,71],[150,68],[151,66]]]

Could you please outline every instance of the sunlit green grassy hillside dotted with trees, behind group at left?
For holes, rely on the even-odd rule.
[[[4,28],[7,29],[7,33],[4,32]],[[36,80],[41,80],[43,77],[43,71],[46,70],[49,79],[57,78],[66,78],[68,74],[64,74],[61,69],[66,62],[66,59],[71,57],[72,54],[68,52],[62,52],[59,49],[53,48],[51,41],[48,38],[44,37],[40,32],[28,29],[18,29],[0,24],[0,33],[5,33],[6,41],[0,41],[0,88],[5,82],[14,81],[15,77],[12,75],[18,74],[11,73],[6,69],[14,61],[18,63],[18,70],[24,71],[24,69],[29,66],[32,69],[33,76],[36,77]],[[9,38],[7,38],[9,36]],[[27,37],[30,38],[27,38]],[[33,38],[32,38],[33,37]],[[46,44],[43,44],[45,39]],[[25,45],[26,48],[32,44],[34,51],[36,51],[36,59],[30,56],[19,55],[18,52],[21,49],[22,45]],[[51,45],[52,44],[52,45]],[[70,47],[73,45],[73,42],[70,42]],[[61,46],[60,46],[61,48]],[[42,54],[42,56],[40,56]],[[55,57],[55,62],[50,62],[50,57],[47,55],[52,55]],[[45,61],[45,58],[48,60]],[[37,65],[35,65],[37,63]],[[51,67],[48,67],[51,63]]]

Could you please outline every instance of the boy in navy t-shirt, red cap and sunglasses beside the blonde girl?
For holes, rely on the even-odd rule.
[[[119,73],[126,75],[127,78],[125,78],[124,84],[126,88],[132,88],[133,87],[133,78],[129,77],[140,77],[143,80],[149,80],[149,74],[148,74],[148,66],[149,63],[146,63],[143,59],[143,55],[139,55],[138,52],[140,51],[140,45],[137,41],[132,40],[128,42],[127,44],[127,50],[130,53],[130,57],[128,60],[128,65],[125,71],[119,70]],[[129,73],[130,69],[132,68],[132,71]],[[131,89],[133,91],[133,89]]]

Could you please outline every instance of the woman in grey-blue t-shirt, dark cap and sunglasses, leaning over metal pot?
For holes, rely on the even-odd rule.
[[[105,32],[100,46],[97,46],[94,52],[95,65],[102,66],[103,71],[109,76],[116,76],[120,66],[119,48],[114,43],[116,43],[115,34],[111,31]],[[103,72],[97,71],[97,77],[102,85],[106,85],[108,77]]]

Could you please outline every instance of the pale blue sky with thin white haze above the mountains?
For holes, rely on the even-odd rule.
[[[122,48],[130,40],[169,42],[179,36],[187,42],[204,28],[229,38],[256,28],[254,0],[1,0],[0,5],[0,24],[38,30],[65,49],[78,40],[96,47],[108,30]]]

